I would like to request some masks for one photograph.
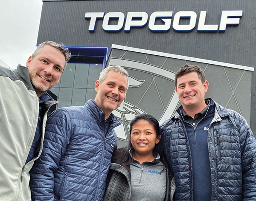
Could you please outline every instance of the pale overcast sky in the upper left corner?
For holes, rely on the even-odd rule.
[[[0,3],[0,59],[12,69],[26,65],[35,51],[42,5],[42,0]]]

